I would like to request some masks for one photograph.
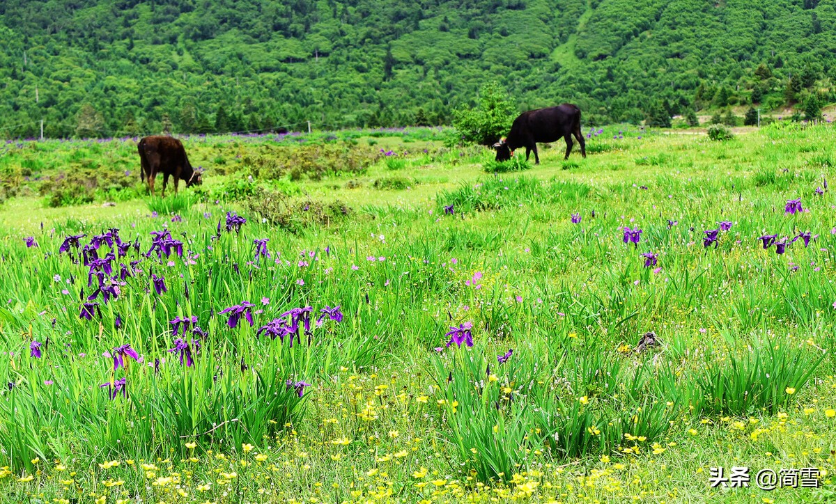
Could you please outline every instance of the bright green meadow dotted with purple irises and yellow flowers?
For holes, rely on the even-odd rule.
[[[212,171],[176,206],[12,197],[0,501],[832,499],[836,130],[589,136],[502,174],[385,144],[283,182],[352,208],[293,232]]]

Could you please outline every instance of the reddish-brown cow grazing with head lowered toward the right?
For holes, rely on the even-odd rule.
[[[140,151],[140,180],[148,184],[151,196],[154,196],[154,180],[160,172],[163,174],[162,196],[166,196],[170,175],[174,176],[175,194],[181,179],[186,181],[186,187],[201,184],[201,174],[191,167],[180,140],[171,136],[146,136],[140,140],[137,149]]]

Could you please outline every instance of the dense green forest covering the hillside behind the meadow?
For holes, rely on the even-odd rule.
[[[0,135],[587,124],[836,99],[836,0],[3,0]],[[813,107],[814,109],[814,107]]]

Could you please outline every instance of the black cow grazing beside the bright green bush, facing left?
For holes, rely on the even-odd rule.
[[[507,138],[493,145],[497,150],[497,161],[511,159],[512,151],[525,147],[525,160],[534,151],[534,163],[540,164],[537,142],[548,143],[563,137],[566,140],[566,157],[572,151],[572,135],[580,143],[580,153],[586,157],[586,143],[580,132],[580,109],[573,104],[562,104],[548,109],[523,112],[511,125]]]

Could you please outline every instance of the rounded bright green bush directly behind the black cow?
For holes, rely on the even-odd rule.
[[[482,86],[476,108],[453,111],[453,127],[469,144],[492,145],[511,129],[516,107],[507,91],[496,82]]]

